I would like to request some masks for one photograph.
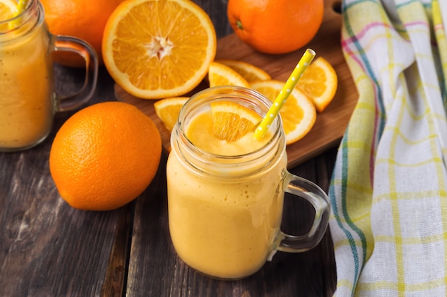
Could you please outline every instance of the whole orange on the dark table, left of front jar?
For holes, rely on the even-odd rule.
[[[158,170],[161,137],[128,103],[91,105],[54,137],[49,167],[61,197],[76,209],[116,209],[141,194]]]

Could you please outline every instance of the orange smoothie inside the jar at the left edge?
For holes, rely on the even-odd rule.
[[[55,100],[48,43],[43,23],[25,35],[0,36],[0,150],[35,145],[51,130]]]

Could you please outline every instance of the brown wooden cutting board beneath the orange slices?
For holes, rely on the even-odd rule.
[[[356,105],[358,93],[353,83],[351,73],[343,58],[341,51],[341,15],[334,11],[336,1],[325,1],[325,14],[323,24],[313,40],[305,47],[284,55],[268,55],[258,53],[250,46],[243,43],[234,33],[219,39],[217,43],[217,58],[242,60],[263,68],[273,79],[286,81],[303,55],[306,48],[316,51],[316,57],[322,56],[331,63],[338,76],[338,88],[335,97],[328,108],[319,113],[312,130],[298,142],[287,147],[288,167],[294,167],[311,157],[338,145],[348,125],[351,113]],[[192,95],[199,90],[207,88],[203,81],[195,90],[187,95]],[[115,94],[118,100],[131,103],[139,110],[154,120],[161,132],[162,141],[166,151],[170,150],[169,131],[166,130],[161,120],[156,116],[154,100],[136,98],[126,93],[119,85],[115,85]]]

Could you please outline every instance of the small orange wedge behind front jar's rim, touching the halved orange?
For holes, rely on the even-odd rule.
[[[238,85],[250,88],[250,84],[242,75],[218,62],[209,64],[208,78],[210,87],[215,87],[216,85]]]

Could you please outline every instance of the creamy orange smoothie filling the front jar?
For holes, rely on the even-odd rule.
[[[211,115],[199,113],[186,127],[196,147],[217,155],[243,155],[262,147],[251,133],[226,142],[211,132]],[[274,159],[266,170],[250,165],[233,167],[223,177],[196,174],[187,169],[176,148],[167,165],[171,239],[186,264],[216,278],[243,278],[258,271],[276,249],[283,209],[278,189],[286,168],[286,154],[267,153],[256,162]],[[273,154],[273,155],[272,155]],[[210,165],[208,172],[219,172]],[[226,177],[226,175],[240,175]]]

